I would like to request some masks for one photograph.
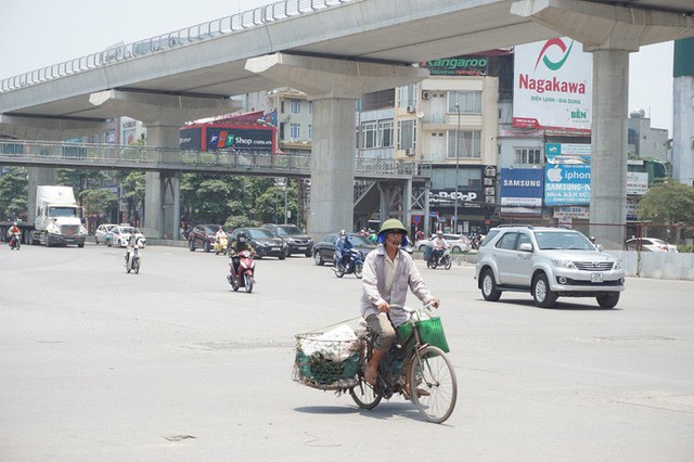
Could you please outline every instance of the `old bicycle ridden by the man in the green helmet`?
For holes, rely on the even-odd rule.
[[[422,312],[430,311],[426,305],[419,309],[403,307],[408,311],[410,332],[404,339],[396,342],[383,356],[378,363],[376,384],[371,386],[363,374],[363,369],[373,351],[375,344],[374,333],[367,329],[360,336],[360,368],[357,373],[357,384],[349,388],[349,395],[361,409],[374,409],[383,398],[399,393],[410,399],[425,420],[433,423],[442,423],[453,412],[458,399],[458,381],[453,365],[446,352],[438,346],[430,345],[422,339],[420,332]],[[398,328],[400,333],[408,329]],[[442,330],[440,331],[442,336]],[[445,343],[445,337],[444,337]],[[448,349],[447,345],[445,345]],[[410,393],[406,392],[404,374],[409,373]]]

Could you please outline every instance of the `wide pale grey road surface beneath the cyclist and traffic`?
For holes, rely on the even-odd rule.
[[[617,308],[481,298],[474,267],[420,265],[442,299],[453,415],[362,411],[292,381],[294,335],[358,316],[360,282],[310,258],[150,246],[0,247],[2,461],[691,461],[694,283],[629,279]],[[410,303],[416,299],[411,296]]]

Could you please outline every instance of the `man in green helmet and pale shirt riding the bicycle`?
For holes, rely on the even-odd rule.
[[[375,384],[381,358],[396,341],[395,329],[408,319],[402,309],[408,287],[423,304],[439,306],[439,299],[429,292],[412,256],[403,249],[409,244],[407,234],[400,220],[385,220],[378,231],[380,245],[364,260],[361,316],[377,336],[373,356],[364,368],[364,378],[371,385]],[[409,383],[406,383],[406,393],[410,393]]]

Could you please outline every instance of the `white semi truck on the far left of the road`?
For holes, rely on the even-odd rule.
[[[36,220],[31,244],[75,244],[85,246],[87,228],[82,224],[82,209],[75,201],[70,187],[36,187]]]

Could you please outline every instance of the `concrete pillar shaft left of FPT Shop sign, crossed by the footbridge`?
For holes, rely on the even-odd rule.
[[[176,125],[147,125],[149,146],[179,149]],[[167,171],[147,171],[144,188],[144,221],[142,228],[163,239],[177,239],[180,222],[180,178]]]

